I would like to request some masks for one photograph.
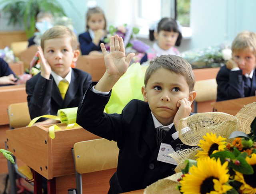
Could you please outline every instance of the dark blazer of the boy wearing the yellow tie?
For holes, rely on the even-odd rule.
[[[45,114],[56,115],[59,109],[77,107],[84,92],[92,82],[92,76],[79,69],[72,69],[71,82],[64,100],[52,75],[47,80],[38,73],[26,82],[30,118]],[[38,120],[42,121],[44,119]]]

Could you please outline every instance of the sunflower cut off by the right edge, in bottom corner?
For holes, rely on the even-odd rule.
[[[242,183],[240,190],[242,190],[243,193],[254,194],[256,193],[256,154],[253,153],[251,157],[246,157],[246,162],[252,166],[254,173],[242,174],[236,172],[235,180]]]

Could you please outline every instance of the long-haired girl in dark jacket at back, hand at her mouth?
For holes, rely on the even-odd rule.
[[[106,36],[105,14],[100,7],[92,6],[86,13],[86,32],[78,36],[82,55],[99,54],[100,43],[104,43]]]

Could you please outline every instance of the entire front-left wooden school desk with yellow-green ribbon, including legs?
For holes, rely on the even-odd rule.
[[[66,124],[57,124],[55,138],[49,136],[51,125],[37,125],[7,130],[7,149],[34,170],[34,193],[41,194],[40,176],[48,179],[48,194],[68,193],[76,188],[74,161],[71,148],[78,141],[100,137],[82,127],[65,129]],[[90,157],[90,156],[88,156]],[[107,193],[109,180],[116,169],[82,174],[85,193]]]

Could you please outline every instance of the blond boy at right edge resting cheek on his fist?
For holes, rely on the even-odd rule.
[[[217,100],[255,96],[256,33],[242,31],[234,39],[232,59],[217,74]]]

